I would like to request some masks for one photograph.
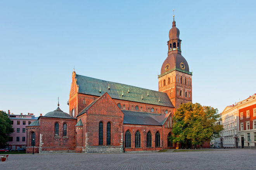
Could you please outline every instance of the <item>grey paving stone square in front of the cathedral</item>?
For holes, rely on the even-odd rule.
[[[0,170],[256,170],[256,150],[120,153],[23,154],[0,161]]]

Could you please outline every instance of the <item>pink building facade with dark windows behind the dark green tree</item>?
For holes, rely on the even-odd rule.
[[[12,128],[14,128],[14,132],[10,134],[8,145],[10,149],[16,150],[19,148],[26,149],[26,126],[30,125],[32,122],[37,120],[38,117],[35,117],[33,113],[28,113],[28,115],[14,115],[10,114],[10,110],[8,110],[8,117],[12,121]]]

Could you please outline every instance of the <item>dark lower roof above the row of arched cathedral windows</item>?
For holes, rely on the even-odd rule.
[[[160,115],[145,112],[132,112],[128,110],[122,110],[124,113],[124,124],[136,124],[136,125],[160,125],[162,126],[169,114]]]

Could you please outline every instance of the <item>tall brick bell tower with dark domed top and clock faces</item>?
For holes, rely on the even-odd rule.
[[[169,31],[168,57],[164,60],[161,74],[158,75],[158,91],[167,93],[176,109],[180,104],[192,102],[192,72],[189,64],[181,55],[180,30],[173,26]]]

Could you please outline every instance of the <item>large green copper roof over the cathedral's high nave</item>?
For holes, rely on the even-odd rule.
[[[168,95],[163,92],[138,88],[127,84],[104,81],[76,74],[78,93],[102,96],[105,92],[113,99],[173,107]],[[101,91],[101,93],[99,93]],[[143,98],[143,100],[142,100]],[[160,101],[160,102],[159,102]]]

